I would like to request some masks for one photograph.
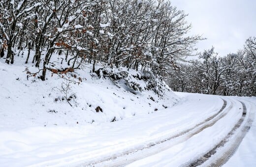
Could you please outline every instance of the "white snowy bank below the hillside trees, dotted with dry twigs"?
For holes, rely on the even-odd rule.
[[[171,91],[163,97],[150,90],[130,92],[125,84],[118,87],[108,78],[93,76],[90,65],[74,73],[81,78],[80,83],[51,73],[42,82],[28,77],[31,75],[23,62],[25,59],[20,58],[10,66],[0,59],[0,129],[118,121],[140,113],[160,112],[179,99]]]

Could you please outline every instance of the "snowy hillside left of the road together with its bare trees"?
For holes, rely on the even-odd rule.
[[[172,106],[165,78],[200,39],[186,16],[157,0],[1,0],[3,115],[78,124]]]

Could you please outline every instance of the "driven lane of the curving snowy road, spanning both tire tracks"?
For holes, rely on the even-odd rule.
[[[252,122],[254,120],[254,111],[247,110],[247,106],[254,105],[250,102],[239,101],[235,98],[222,97],[223,105],[220,110],[213,115],[209,116],[204,121],[197,123],[190,129],[186,129],[179,134],[170,136],[168,138],[156,141],[154,143],[147,143],[144,147],[139,149],[131,149],[121,154],[101,159],[96,162],[85,163],[82,166],[94,166],[94,167],[122,167],[122,166],[151,166],[151,161],[147,162],[147,159],[155,159],[154,156],[162,153],[165,150],[171,151],[171,149],[181,143],[186,143],[187,140],[193,138],[197,134],[200,134],[207,129],[214,128],[220,120],[225,119],[237,119],[229,131],[225,132],[225,136],[218,139],[218,142],[214,143],[212,147],[206,148],[205,152],[197,154],[195,157],[191,157],[186,163],[180,162],[177,165],[182,167],[196,167],[196,166],[211,166],[220,167],[228,161],[228,159],[234,154],[242,139],[246,133],[250,130]],[[230,114],[231,113],[231,114]],[[239,117],[237,117],[239,115]],[[229,123],[229,122],[226,122]],[[222,123],[223,124],[223,123]],[[195,137],[196,138],[196,137]],[[173,148],[175,149],[175,148]],[[142,160],[140,162],[140,160]],[[154,163],[153,166],[172,166],[167,163]]]

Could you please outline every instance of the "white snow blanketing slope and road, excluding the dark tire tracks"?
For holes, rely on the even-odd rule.
[[[2,167],[83,166],[135,152],[204,122],[220,111],[222,98],[226,100],[223,117],[212,126],[189,137],[185,134],[175,144],[173,140],[163,142],[161,151],[128,165],[176,167],[202,156],[224,139],[242,114],[242,104],[237,99],[248,110],[256,110],[256,98],[177,92],[179,99],[168,92],[161,99],[152,91],[133,94],[109,80],[95,79],[89,75],[89,69],[79,72],[86,80],[79,85],[70,84],[67,94],[72,97],[71,107],[62,100],[60,87],[66,84],[62,79],[55,75],[50,78],[50,74],[45,82],[27,79],[19,64],[22,62],[6,65],[0,59]],[[102,112],[96,112],[97,106]],[[225,166],[256,166],[255,140],[254,122]]]

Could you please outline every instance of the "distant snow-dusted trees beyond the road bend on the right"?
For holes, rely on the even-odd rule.
[[[224,57],[217,56],[214,48],[204,51],[198,60],[180,64],[168,83],[175,91],[256,96],[256,37]]]

